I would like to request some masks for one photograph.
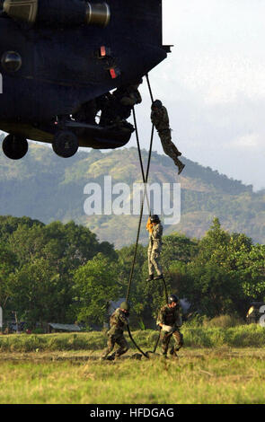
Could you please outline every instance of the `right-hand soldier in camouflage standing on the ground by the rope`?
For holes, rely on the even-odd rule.
[[[177,351],[183,346],[183,336],[180,331],[181,308],[178,296],[171,295],[169,297],[168,304],[161,308],[156,323],[161,327],[160,341],[163,356],[167,355],[171,338],[174,339],[175,344],[171,348],[170,354],[177,356]]]

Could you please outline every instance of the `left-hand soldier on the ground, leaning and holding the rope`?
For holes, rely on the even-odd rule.
[[[103,359],[107,358],[116,343],[119,348],[110,357],[119,357],[128,351],[128,343],[123,335],[123,331],[128,325],[128,315],[129,305],[127,302],[122,302],[110,316],[110,330],[107,333],[109,337],[108,347],[102,355]]]

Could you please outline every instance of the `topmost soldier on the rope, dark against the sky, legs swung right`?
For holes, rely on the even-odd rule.
[[[164,154],[172,158],[173,162],[179,168],[179,174],[184,169],[185,164],[181,163],[179,156],[181,156],[178,148],[172,143],[171,128],[169,127],[169,118],[167,110],[163,107],[160,100],[155,100],[152,104],[151,120],[155,126],[158,135],[161,139]]]

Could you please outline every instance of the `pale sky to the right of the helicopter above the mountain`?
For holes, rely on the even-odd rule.
[[[163,0],[163,44],[174,47],[149,75],[182,154],[254,190],[265,188],[264,16],[264,0]],[[147,148],[146,86],[141,93]],[[154,149],[163,153],[157,136]]]

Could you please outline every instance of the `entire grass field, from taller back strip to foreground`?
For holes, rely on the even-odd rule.
[[[0,403],[265,403],[265,330],[185,329],[179,358],[100,361],[102,332],[0,336]],[[137,331],[144,350],[157,332]],[[157,350],[160,351],[159,348]]]

